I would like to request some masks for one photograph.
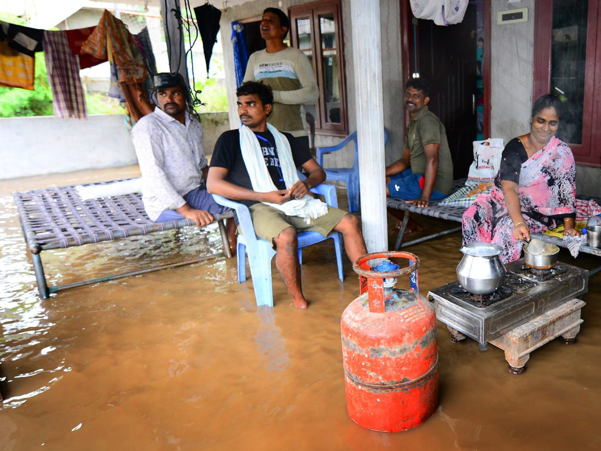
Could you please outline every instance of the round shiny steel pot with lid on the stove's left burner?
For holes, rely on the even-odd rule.
[[[463,246],[463,258],[457,265],[457,281],[474,295],[489,295],[505,280],[505,266],[499,259],[501,246],[492,243],[472,243]]]

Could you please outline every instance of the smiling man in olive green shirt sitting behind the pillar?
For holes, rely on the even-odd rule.
[[[386,195],[427,207],[453,188],[453,161],[445,126],[428,111],[429,85],[421,78],[405,85],[405,109],[411,120],[405,132],[403,156],[386,167]]]

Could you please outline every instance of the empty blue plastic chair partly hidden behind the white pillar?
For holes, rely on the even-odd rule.
[[[350,168],[323,168],[323,154],[336,152],[353,141],[355,143],[355,161]],[[388,132],[384,129],[384,145],[388,143]],[[359,211],[359,146],[357,145],[357,132],[350,133],[339,144],[335,146],[317,147],[315,159],[319,165],[326,171],[326,179],[341,180],[346,183],[346,195],[349,200],[349,211]]]

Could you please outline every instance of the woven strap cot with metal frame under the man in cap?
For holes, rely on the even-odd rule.
[[[82,186],[108,185],[116,181],[119,180],[87,183]],[[46,283],[44,268],[40,258],[42,251],[112,241],[114,239],[126,238],[127,236],[148,235],[149,233],[162,232],[163,230],[196,227],[196,224],[189,219],[158,223],[151,221],[144,211],[142,196],[139,192],[82,200],[76,190],[76,186],[69,185],[34,189],[27,192],[13,192],[13,198],[17,204],[19,221],[23,229],[25,241],[32,254],[38,292],[43,299],[48,298],[50,293],[63,289],[118,277],[142,274],[171,266],[187,265],[215,257],[201,257],[157,268],[141,269],[139,271],[114,274],[109,277],[49,287]],[[232,218],[233,216],[233,211],[213,215],[215,221],[218,221],[221,239],[224,244],[224,254],[227,257],[231,257],[231,253],[223,220]]]

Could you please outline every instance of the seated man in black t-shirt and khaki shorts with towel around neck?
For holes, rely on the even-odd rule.
[[[367,254],[359,221],[308,196],[326,174],[308,148],[298,147],[291,135],[267,125],[273,106],[271,88],[249,81],[237,89],[236,95],[242,127],[223,133],[217,140],[207,191],[249,207],[256,235],[275,247],[276,267],[294,305],[307,308],[297,258],[297,230],[314,230],[323,236],[332,230],[342,233],[347,256],[355,262]],[[307,171],[306,180],[298,180],[298,167]],[[292,207],[297,208],[293,211]]]

